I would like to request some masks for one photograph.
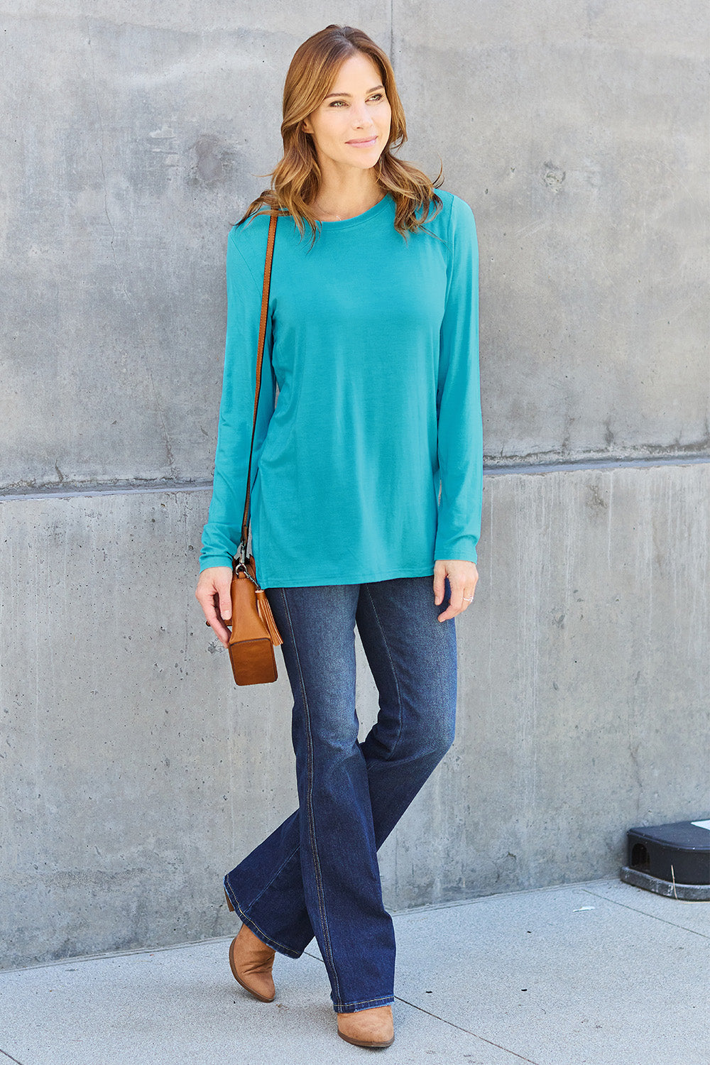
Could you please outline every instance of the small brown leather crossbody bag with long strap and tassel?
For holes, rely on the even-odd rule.
[[[232,560],[232,619],[225,622],[231,628],[229,657],[236,684],[266,684],[276,681],[277,669],[274,648],[283,643],[271,613],[266,592],[257,580],[257,566],[253,555],[247,555],[249,539],[249,495],[251,487],[251,456],[257,431],[257,409],[261,390],[261,371],[268,321],[268,293],[271,283],[271,261],[276,237],[277,216],[273,215],[268,225],[266,242],[266,263],[264,264],[264,289],[262,292],[261,322],[259,325],[259,350],[257,354],[257,389],[254,395],[254,416],[251,427],[249,448],[249,470],[247,472],[247,494],[242,519],[242,540]]]

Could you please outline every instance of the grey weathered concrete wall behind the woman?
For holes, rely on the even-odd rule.
[[[387,902],[613,874],[631,824],[710,812],[705,5],[262,11],[2,17],[5,966],[228,932],[222,872],[295,804],[285,670],[234,688],[192,589],[226,234],[333,20],[390,50],[481,252],[481,581]]]

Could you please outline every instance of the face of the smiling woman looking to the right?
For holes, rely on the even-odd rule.
[[[392,109],[382,77],[368,55],[345,60],[319,108],[303,120],[313,136],[318,164],[336,168],[375,166],[390,136]]]

